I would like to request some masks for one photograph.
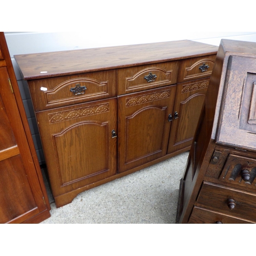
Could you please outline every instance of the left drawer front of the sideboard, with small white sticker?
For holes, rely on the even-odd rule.
[[[35,111],[116,96],[116,72],[104,71],[29,81]]]

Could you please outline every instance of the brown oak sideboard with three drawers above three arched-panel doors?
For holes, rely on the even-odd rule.
[[[217,50],[181,40],[14,56],[56,206],[188,151]]]

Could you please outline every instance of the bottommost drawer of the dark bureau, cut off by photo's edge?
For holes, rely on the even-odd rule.
[[[192,224],[247,224],[254,223],[247,220],[233,218],[231,216],[220,214],[220,212],[194,207],[188,220]]]

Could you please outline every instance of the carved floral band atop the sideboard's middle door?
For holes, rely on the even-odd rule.
[[[159,99],[168,98],[169,96],[170,96],[170,90],[165,90],[165,91],[156,92],[156,93],[143,94],[140,96],[127,98],[125,106],[127,108],[129,106],[139,105],[139,104],[143,104],[145,102],[151,102],[151,101],[155,101],[155,100],[159,100]]]

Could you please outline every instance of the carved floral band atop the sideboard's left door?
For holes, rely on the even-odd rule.
[[[83,108],[73,109],[73,110],[65,110],[60,112],[54,112],[48,114],[49,122],[56,123],[67,121],[71,119],[76,119],[85,116],[97,115],[100,113],[109,112],[109,103],[85,106]]]

